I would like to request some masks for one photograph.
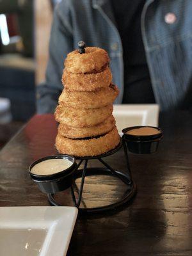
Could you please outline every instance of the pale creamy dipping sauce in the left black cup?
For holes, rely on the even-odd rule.
[[[67,159],[47,159],[35,164],[35,166],[31,168],[31,173],[36,175],[51,175],[66,170],[72,166],[72,164],[73,163]]]

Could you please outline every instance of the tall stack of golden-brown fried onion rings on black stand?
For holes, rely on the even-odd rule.
[[[60,122],[56,148],[61,154],[97,156],[120,143],[112,115],[118,88],[112,84],[108,53],[86,47],[70,52],[65,60],[55,118]]]

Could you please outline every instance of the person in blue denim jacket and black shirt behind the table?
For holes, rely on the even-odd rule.
[[[68,52],[83,40],[104,48],[115,103],[157,103],[161,111],[192,106],[191,0],[63,0],[54,10],[46,81],[38,113],[52,113],[63,90]]]

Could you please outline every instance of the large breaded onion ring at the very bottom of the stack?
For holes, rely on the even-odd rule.
[[[60,132],[56,136],[56,148],[60,154],[72,156],[98,156],[112,150],[120,143],[120,136],[116,127],[104,136],[91,138],[89,140],[72,140],[61,136]]]

